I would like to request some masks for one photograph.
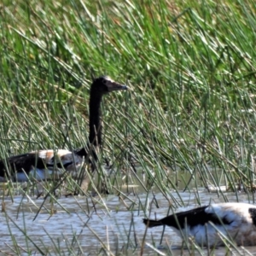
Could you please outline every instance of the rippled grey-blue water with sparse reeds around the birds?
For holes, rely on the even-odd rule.
[[[191,186],[193,187],[193,184]],[[224,197],[228,201],[236,201],[236,195],[231,192],[218,196],[204,188],[194,191],[192,187],[189,192],[177,194],[169,191],[166,195],[170,201],[177,201],[173,204],[177,211],[198,206],[199,201],[202,205],[209,201],[224,201]],[[135,188],[135,191],[136,194],[124,194],[122,199],[116,195],[108,195],[102,199],[61,198],[54,204],[48,201],[35,220],[33,219],[43,199],[22,200],[22,197],[16,196],[12,202],[5,197],[5,212],[0,213],[0,253],[11,252],[13,248],[15,252],[20,250],[21,255],[27,255],[27,252],[40,253],[40,250],[41,253],[48,252],[51,255],[59,254],[60,251],[65,255],[95,255],[102,247],[107,247],[113,255],[117,254],[116,252],[125,252],[126,249],[129,254],[139,255],[140,244],[145,235],[145,226],[142,223],[142,218],[145,217],[143,209],[146,209],[147,214],[150,210],[151,216],[155,213],[157,218],[162,218],[168,212],[169,202],[161,193],[155,193],[153,196],[152,193],[147,195],[141,192],[139,188]],[[252,202],[248,195],[241,193],[238,196],[239,201]],[[153,198],[157,201],[157,207],[151,203]],[[188,207],[178,206],[181,198]],[[147,231],[145,240],[149,246],[145,245],[144,255],[156,255],[150,244],[159,247],[162,231],[161,227]],[[27,239],[24,234],[28,236]],[[176,233],[167,227],[163,236],[163,247],[172,245],[172,255],[189,255],[188,250],[181,252],[179,249],[181,242]],[[256,252],[256,247],[246,249],[251,253]],[[242,248],[240,250],[241,254],[247,255]],[[169,253],[167,249],[161,249],[160,252]],[[207,250],[202,252],[207,255]],[[195,252],[195,255],[197,254],[199,255]],[[215,254],[225,255],[226,251],[224,248],[218,248]],[[232,255],[239,254],[234,252]]]

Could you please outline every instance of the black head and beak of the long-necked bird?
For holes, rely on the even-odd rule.
[[[93,80],[90,90],[104,95],[113,90],[127,90],[127,86],[114,82],[113,79],[110,79],[108,76],[101,76]]]

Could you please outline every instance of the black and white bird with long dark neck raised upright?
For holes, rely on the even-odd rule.
[[[63,171],[76,173],[84,165],[86,159],[90,159],[90,163],[95,162],[97,160],[96,148],[102,146],[102,96],[114,90],[127,90],[127,86],[114,82],[108,76],[94,79],[90,86],[88,147],[73,151],[42,149],[1,160],[0,181],[11,179],[22,182],[27,181],[28,177],[45,180],[51,177],[53,173],[55,175],[61,175]]]

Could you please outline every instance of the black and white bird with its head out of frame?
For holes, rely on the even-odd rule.
[[[218,203],[177,212],[160,220],[143,219],[149,228],[167,225],[177,234],[194,237],[200,246],[223,246],[219,233],[238,246],[256,245],[256,206],[247,203]]]

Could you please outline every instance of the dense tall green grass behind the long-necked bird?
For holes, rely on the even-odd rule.
[[[85,145],[91,76],[106,73],[131,90],[103,102],[104,149],[91,190],[105,183],[129,198],[136,183],[179,207],[182,195],[172,191],[193,182],[226,185],[237,201],[244,189],[254,202],[255,7],[252,0],[3,1],[1,158]],[[35,188],[28,185],[27,196]],[[57,186],[44,184],[54,201]],[[76,188],[67,179],[65,191]]]

